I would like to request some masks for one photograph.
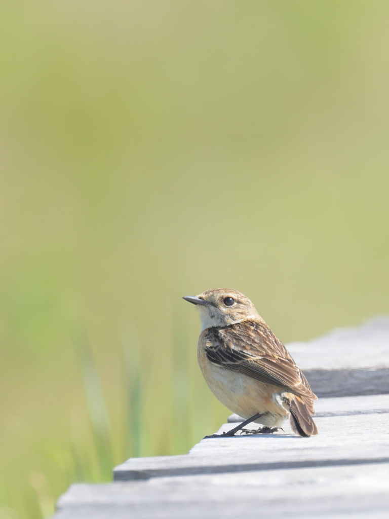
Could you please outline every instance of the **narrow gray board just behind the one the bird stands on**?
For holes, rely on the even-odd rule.
[[[319,398],[315,403],[315,417],[341,415],[368,415],[389,413],[389,394],[364,397]],[[233,414],[228,422],[242,422],[244,418]]]

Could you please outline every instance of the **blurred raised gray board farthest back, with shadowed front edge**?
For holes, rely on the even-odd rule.
[[[318,397],[389,393],[389,317],[286,347]]]

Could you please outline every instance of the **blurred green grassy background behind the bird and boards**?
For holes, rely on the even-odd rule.
[[[0,519],[229,414],[180,299],[389,312],[389,4],[3,0]]]

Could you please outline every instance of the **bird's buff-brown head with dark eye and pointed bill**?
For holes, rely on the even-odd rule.
[[[261,319],[249,298],[236,290],[206,290],[196,296],[184,296],[183,299],[197,305],[203,330],[228,326],[246,319]]]

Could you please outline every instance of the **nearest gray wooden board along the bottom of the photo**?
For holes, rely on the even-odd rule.
[[[387,518],[389,463],[72,485],[56,519]]]

